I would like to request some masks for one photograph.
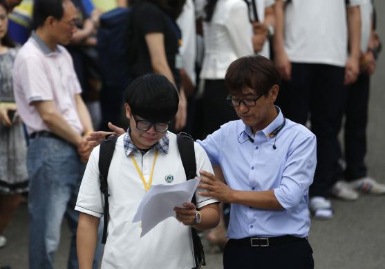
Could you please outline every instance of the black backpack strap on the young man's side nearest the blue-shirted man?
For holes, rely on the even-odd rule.
[[[194,139],[192,139],[191,135],[185,132],[180,132],[177,135],[177,141],[180,159],[182,160],[183,168],[185,168],[186,179],[194,179],[196,177]],[[196,205],[195,195],[193,195],[191,202]],[[198,233],[192,227],[191,235],[194,246],[194,260],[196,264],[196,267],[194,267],[193,269],[198,269],[206,265],[205,252],[203,251],[203,245],[200,241]]]

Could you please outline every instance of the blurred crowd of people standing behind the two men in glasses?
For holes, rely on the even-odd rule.
[[[30,248],[35,251],[31,268],[52,266],[64,215],[75,240],[77,181],[91,152],[86,136],[113,128],[111,123],[129,126],[124,90],[148,73],[164,75],[178,90],[178,112],[170,130],[205,139],[238,119],[226,100],[230,63],[252,54],[272,59],[282,77],[276,106],[317,137],[317,168],[309,194],[312,217],[332,219],[330,197],[355,201],[360,193],[385,194],[385,184],[370,177],[365,164],[370,76],[382,47],[373,1],[68,1],[75,8],[73,17],[63,21],[58,15],[62,28],[49,28],[41,10],[50,0],[0,0],[0,248],[6,245],[3,232],[21,194],[29,191],[30,241],[35,245]],[[59,27],[55,19],[52,27]],[[62,30],[62,36],[53,29]],[[114,31],[120,32],[119,43],[109,43],[115,42]],[[40,52],[32,43],[50,54],[52,62],[33,60],[31,55]],[[120,57],[111,56],[114,53]],[[44,74],[39,65],[51,65],[57,74]],[[73,92],[67,98],[63,92],[69,85]],[[47,87],[52,92],[44,91]],[[344,152],[338,139],[342,129]],[[62,132],[66,143],[54,143],[56,135],[50,130]],[[47,155],[54,163],[41,159]],[[62,203],[43,210],[46,201],[61,196],[54,190],[64,186],[57,178],[59,185],[43,196],[47,186],[34,178],[54,178],[48,168],[58,165],[55,161],[67,163],[62,176],[72,173],[73,182],[68,182],[71,188]],[[229,206],[221,206],[220,224],[207,232],[207,240],[219,249],[227,242],[229,219]],[[44,215],[48,211],[51,215]],[[37,239],[39,233],[44,237]],[[37,261],[41,253],[44,261]],[[71,253],[69,264],[75,264],[75,242]]]

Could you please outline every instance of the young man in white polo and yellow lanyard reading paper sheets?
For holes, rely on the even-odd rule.
[[[198,195],[194,203],[174,208],[176,219],[159,223],[140,238],[140,223],[133,217],[151,185],[186,181],[176,135],[167,132],[178,110],[178,92],[166,77],[147,74],[135,79],[125,93],[130,126],[118,137],[108,175],[109,226],[102,268],[193,268],[191,229],[214,228],[219,221],[218,201]],[[212,171],[203,150],[194,143],[197,175]],[[98,168],[100,147],[91,153],[75,209],[79,266],[91,268],[97,226],[104,214]],[[200,190],[201,191],[201,190]],[[180,221],[180,222],[178,222]]]

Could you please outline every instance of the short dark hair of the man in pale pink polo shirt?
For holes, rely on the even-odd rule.
[[[68,0],[35,0],[33,4],[33,29],[44,26],[50,16],[57,20],[64,16],[64,1]]]

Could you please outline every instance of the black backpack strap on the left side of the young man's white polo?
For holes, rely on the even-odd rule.
[[[104,227],[102,243],[105,244],[107,240],[107,228],[109,227],[109,183],[107,176],[109,175],[109,168],[115,150],[115,143],[117,136],[106,137],[100,144],[99,152],[99,180],[100,191],[104,195]]]

